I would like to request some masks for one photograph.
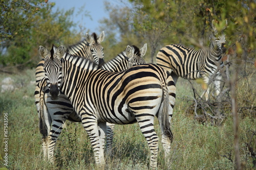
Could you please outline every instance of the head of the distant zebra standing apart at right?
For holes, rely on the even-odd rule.
[[[220,50],[221,53],[224,54],[227,48],[225,47],[226,38],[223,31],[227,28],[227,20],[226,20],[225,27],[220,32],[214,26],[214,20],[212,20],[211,22],[211,27],[212,27],[212,35],[210,36],[210,41],[212,41],[215,44],[214,45],[215,48],[218,48],[218,50]]]

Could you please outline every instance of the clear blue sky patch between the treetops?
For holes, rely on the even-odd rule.
[[[72,20],[76,23],[83,23],[83,26],[87,29],[90,29],[90,32],[95,32],[96,34],[100,34],[104,30],[99,30],[99,20],[103,18],[109,18],[109,14],[104,9],[104,1],[106,0],[49,0],[49,2],[55,3],[53,11],[58,9],[64,9],[65,11],[74,8],[74,14],[72,16]],[[124,5],[123,2],[126,0],[108,0],[109,3],[113,5]],[[83,13],[88,11],[91,15],[90,17],[83,16],[82,14],[78,14],[79,10],[84,7]],[[77,27],[77,31],[79,31],[79,27]],[[91,34],[89,33],[89,34]]]

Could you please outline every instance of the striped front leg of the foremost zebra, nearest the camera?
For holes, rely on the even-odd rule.
[[[82,126],[90,137],[93,147],[95,162],[98,165],[105,164],[104,151],[101,151],[97,117],[94,113],[81,113]],[[100,131],[101,132],[101,131]]]

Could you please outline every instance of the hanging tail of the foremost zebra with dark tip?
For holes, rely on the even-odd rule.
[[[162,110],[162,125],[163,125],[163,128],[164,128],[164,135],[167,138],[169,138],[170,142],[173,142],[173,133],[170,130],[169,112],[168,112],[168,110],[169,110],[168,107],[171,107],[171,106],[169,105],[168,96],[169,96],[168,89],[166,87],[166,89],[164,90],[164,100],[163,100],[163,110]]]

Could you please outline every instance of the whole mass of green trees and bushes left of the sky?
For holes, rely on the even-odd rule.
[[[0,34],[0,64],[22,69],[35,66],[40,60],[38,46],[68,45],[80,41],[79,32],[71,30],[74,9],[52,11],[54,3],[48,1],[5,0],[2,10]],[[17,29],[18,28],[18,29]],[[83,33],[85,35],[85,33]],[[11,70],[12,71],[12,70]]]

